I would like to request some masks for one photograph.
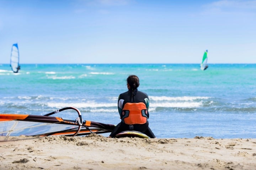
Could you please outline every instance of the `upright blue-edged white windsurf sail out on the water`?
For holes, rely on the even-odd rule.
[[[18,73],[20,70],[20,52],[18,50],[18,44],[13,44],[11,48],[10,66],[14,73]]]

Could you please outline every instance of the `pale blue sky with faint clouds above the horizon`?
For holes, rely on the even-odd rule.
[[[256,63],[256,0],[0,0],[0,63]]]

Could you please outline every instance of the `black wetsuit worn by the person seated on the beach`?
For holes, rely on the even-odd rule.
[[[148,110],[149,98],[146,93],[135,89],[133,93],[132,93],[132,90],[129,90],[127,92],[120,94],[118,97],[118,112],[120,114],[120,117],[122,118],[122,112],[123,112],[122,110],[123,110],[124,104],[137,103],[137,102],[143,102],[146,105],[146,108]],[[147,117],[149,118],[149,113],[147,114]],[[128,124],[125,124],[123,121],[121,121],[111,132],[110,136],[114,137],[116,134],[122,131],[128,131],[128,130],[139,131],[148,135],[150,138],[155,138],[155,135],[149,128],[148,121],[146,121],[145,124],[133,124],[132,127]]]

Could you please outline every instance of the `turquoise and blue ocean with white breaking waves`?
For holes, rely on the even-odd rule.
[[[149,96],[156,137],[256,138],[256,64],[209,64],[204,71],[199,64],[21,64],[18,73],[0,64],[0,114],[72,106],[84,120],[118,124],[118,95],[130,74]]]

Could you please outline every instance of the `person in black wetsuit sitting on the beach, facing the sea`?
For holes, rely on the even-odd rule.
[[[122,131],[139,131],[150,138],[155,138],[149,128],[149,97],[146,93],[138,91],[139,78],[130,75],[127,79],[128,91],[118,97],[118,112],[121,122],[114,128],[109,137],[115,137]]]

